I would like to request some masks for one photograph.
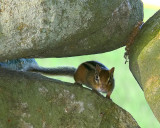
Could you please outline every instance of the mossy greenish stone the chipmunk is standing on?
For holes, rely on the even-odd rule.
[[[35,73],[0,69],[1,128],[139,128],[89,89]]]

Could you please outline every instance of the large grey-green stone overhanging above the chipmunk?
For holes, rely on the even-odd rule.
[[[114,50],[142,20],[141,0],[3,0],[0,61]]]

